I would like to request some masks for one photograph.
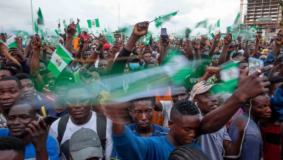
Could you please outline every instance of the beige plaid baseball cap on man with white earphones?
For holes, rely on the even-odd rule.
[[[191,89],[191,98],[194,99],[196,97],[196,95],[198,94],[203,94],[205,92],[207,92],[208,90],[212,89],[214,93],[218,92],[218,91],[222,91],[223,87],[220,84],[210,84],[207,81],[201,81],[197,84],[195,84],[193,86],[193,88]]]

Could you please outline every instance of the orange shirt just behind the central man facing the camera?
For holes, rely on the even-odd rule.
[[[168,87],[168,91],[166,93],[164,93],[163,95],[161,95],[160,93],[157,93],[156,100],[158,100],[158,101],[173,101],[173,99],[171,97],[171,88]],[[158,115],[158,112],[154,111],[153,112],[153,119],[152,119],[151,123],[156,124],[156,125],[160,125],[160,126],[163,127],[164,115]]]

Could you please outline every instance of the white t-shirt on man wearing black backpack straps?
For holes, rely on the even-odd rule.
[[[81,129],[81,128],[89,128],[89,129],[92,129],[93,131],[97,132],[97,128],[96,128],[96,124],[97,124],[97,121],[96,121],[96,113],[91,111],[92,112],[92,117],[91,119],[84,125],[75,125],[71,118],[69,118],[68,120],[68,123],[67,123],[67,126],[66,126],[66,130],[65,130],[65,133],[64,133],[64,136],[62,138],[62,141],[61,141],[61,145],[68,139],[71,138],[72,134]],[[50,130],[49,130],[49,136],[52,136],[56,142],[57,142],[57,148],[58,148],[58,155],[60,154],[60,147],[59,147],[59,142],[57,140],[57,137],[58,137],[58,123],[59,123],[59,120],[61,118],[59,118],[58,120],[54,121],[52,123],[52,125],[50,126]],[[110,119],[107,118],[107,121],[106,121],[106,148],[105,148],[105,158],[109,160],[109,157],[111,155],[111,152],[112,152],[112,147],[113,147],[113,140],[112,140],[112,121]],[[59,157],[59,159],[62,159],[62,160],[65,160],[65,156],[62,152],[62,156]]]

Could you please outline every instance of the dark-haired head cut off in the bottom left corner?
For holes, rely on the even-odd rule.
[[[16,137],[0,137],[0,160],[24,160],[25,144]]]

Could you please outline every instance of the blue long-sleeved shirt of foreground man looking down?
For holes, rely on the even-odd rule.
[[[164,160],[168,159],[171,152],[176,148],[166,138],[161,137],[138,137],[135,136],[128,127],[122,135],[112,135],[113,148],[122,159],[137,160]],[[191,142],[200,149],[202,148],[196,143]]]

